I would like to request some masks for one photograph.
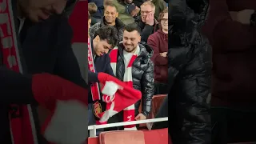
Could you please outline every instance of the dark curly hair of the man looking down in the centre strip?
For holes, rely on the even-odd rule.
[[[101,40],[106,40],[111,46],[118,45],[118,30],[114,26],[102,26],[96,30],[94,38],[99,36]]]

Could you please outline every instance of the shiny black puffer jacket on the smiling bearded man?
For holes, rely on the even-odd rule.
[[[154,95],[154,63],[150,60],[153,50],[145,42],[139,44],[141,54],[134,60],[132,77],[134,89],[142,91],[142,114],[148,116],[151,110],[151,101]],[[123,45],[118,45],[118,63],[116,78],[123,80],[125,74]],[[138,114],[140,101],[135,104],[135,114]]]

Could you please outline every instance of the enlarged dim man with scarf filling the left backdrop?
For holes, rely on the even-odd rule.
[[[44,142],[38,104],[54,106],[56,101],[78,98],[88,101],[87,84],[71,48],[67,18],[75,3],[0,1],[0,143]]]

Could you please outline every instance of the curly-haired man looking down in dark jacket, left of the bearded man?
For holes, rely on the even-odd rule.
[[[93,54],[93,63],[94,63],[94,71],[90,71],[88,82],[92,88],[92,86],[97,86],[95,84],[95,74],[94,73],[105,73],[114,76],[113,70],[110,66],[110,57],[107,54],[109,50],[113,49],[114,46],[118,44],[118,31],[113,26],[102,26],[100,27],[96,33],[94,38],[89,38],[88,49],[92,50]],[[90,59],[88,59],[90,62]],[[92,63],[92,62],[90,62]],[[97,79],[97,78],[96,78]],[[98,81],[96,81],[98,82]],[[101,87],[98,86],[98,90],[101,90]],[[97,91],[89,90],[89,98],[88,98],[88,115],[89,115],[89,125],[95,125],[95,119],[98,118],[97,113],[94,110],[94,104],[100,103],[104,106],[102,101],[94,100],[93,96],[97,94]],[[98,94],[101,94],[98,91]],[[101,95],[100,95],[101,96]],[[102,106],[101,106],[102,108]],[[97,111],[97,110],[96,110]],[[97,111],[98,112],[98,111]],[[101,131],[101,130],[99,130]]]

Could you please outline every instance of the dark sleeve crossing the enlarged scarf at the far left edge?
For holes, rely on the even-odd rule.
[[[32,77],[0,66],[0,105],[37,103],[32,93]]]

